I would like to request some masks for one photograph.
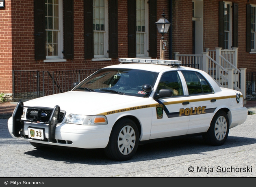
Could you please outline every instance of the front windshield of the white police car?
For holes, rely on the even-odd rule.
[[[82,81],[73,91],[106,92],[128,96],[148,97],[142,86],[154,87],[158,73],[123,68],[104,68]]]

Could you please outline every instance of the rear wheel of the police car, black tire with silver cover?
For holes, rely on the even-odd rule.
[[[206,134],[203,135],[204,141],[210,145],[222,145],[228,138],[229,120],[224,111],[218,111],[210,123]]]

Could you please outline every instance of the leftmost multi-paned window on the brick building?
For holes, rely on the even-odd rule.
[[[45,0],[46,59],[63,58],[62,0]]]

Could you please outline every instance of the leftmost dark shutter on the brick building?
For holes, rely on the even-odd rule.
[[[34,0],[35,60],[46,59],[46,18],[44,0]]]

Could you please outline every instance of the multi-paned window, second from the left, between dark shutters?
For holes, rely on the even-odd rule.
[[[108,8],[107,0],[93,0],[94,57],[107,57]]]

